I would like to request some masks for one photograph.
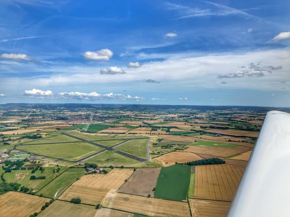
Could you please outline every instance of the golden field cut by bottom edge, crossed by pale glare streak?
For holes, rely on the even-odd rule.
[[[69,202],[64,202],[60,200],[54,201],[49,207],[47,207],[38,216],[40,217],[51,217],[51,216],[61,216],[61,217],[132,217],[134,214],[128,212],[122,212],[113,209],[95,209],[94,206],[84,205],[84,204],[73,204]]]

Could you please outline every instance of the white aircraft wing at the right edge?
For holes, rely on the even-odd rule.
[[[290,114],[267,113],[227,217],[290,216]]]

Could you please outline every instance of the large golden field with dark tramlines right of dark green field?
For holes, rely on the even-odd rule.
[[[243,171],[227,164],[195,166],[194,197],[231,201]]]

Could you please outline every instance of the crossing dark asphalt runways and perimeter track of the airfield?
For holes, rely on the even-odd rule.
[[[137,160],[137,161],[140,161],[140,162],[147,162],[150,160],[150,153],[149,153],[149,142],[150,142],[150,137],[148,138],[148,142],[147,142],[147,158],[146,159],[143,159],[143,158],[138,158],[136,156],[133,156],[133,155],[130,155],[130,154],[127,154],[127,153],[124,153],[124,152],[121,152],[121,151],[118,151],[118,150],[115,150],[113,149],[114,146],[118,146],[124,142],[121,142],[117,145],[114,145],[112,147],[107,147],[107,146],[103,146],[103,145],[100,145],[98,143],[94,143],[93,141],[89,141],[89,140],[85,140],[85,139],[82,139],[82,138],[79,138],[79,137],[76,137],[76,136],[72,136],[72,135],[69,135],[69,134],[66,134],[66,133],[62,133],[63,135],[66,135],[68,137],[72,137],[74,139],[77,139],[77,140],[80,140],[80,141],[83,141],[83,142],[86,142],[86,143],[89,143],[89,144],[92,144],[92,145],[95,145],[95,146],[98,146],[98,147],[101,147],[103,148],[104,150],[101,150],[99,152],[96,152],[96,153],[93,153],[92,155],[89,155],[89,156],[86,156],[85,158],[82,158],[80,160],[77,160],[77,161],[70,161],[70,160],[66,160],[66,159],[63,159],[63,158],[56,158],[56,157],[53,157],[53,156],[46,156],[46,155],[41,155],[41,154],[37,154],[37,153],[32,153],[30,152],[31,154],[33,155],[36,155],[36,156],[43,156],[43,157],[46,157],[46,158],[54,158],[54,159],[57,159],[57,160],[61,160],[61,161],[67,161],[67,162],[72,162],[72,163],[78,163],[78,162],[82,162],[82,161],[85,161],[86,159],[89,159],[95,155],[98,155],[102,152],[105,152],[105,151],[113,151],[115,153],[118,153],[118,154],[121,154],[121,155],[124,155],[126,157],[129,157],[129,158],[132,158],[134,160]],[[142,138],[132,138],[130,140],[134,140],[134,139],[142,139]],[[108,141],[108,140],[99,140],[99,141]],[[26,146],[26,145],[44,145],[44,144],[60,144],[60,143],[78,143],[78,141],[75,141],[75,142],[57,142],[57,143],[36,143],[36,144],[18,144],[18,145],[14,145],[13,149],[12,150],[19,150],[19,151],[26,151],[25,149],[19,149],[18,146]],[[10,152],[11,152],[10,151]]]

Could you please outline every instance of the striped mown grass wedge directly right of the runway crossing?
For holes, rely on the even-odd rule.
[[[147,158],[147,147],[146,147],[147,142],[148,139],[131,140],[120,146],[115,147],[114,149],[128,153],[136,157]]]

